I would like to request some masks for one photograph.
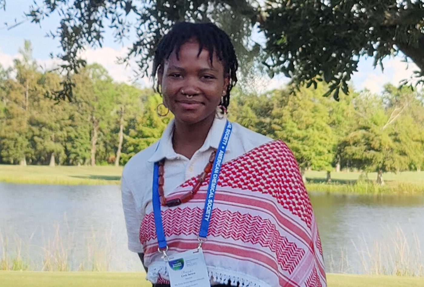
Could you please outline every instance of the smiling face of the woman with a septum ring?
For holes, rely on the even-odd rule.
[[[172,52],[158,74],[165,106],[176,121],[186,124],[213,119],[229,83],[216,53],[212,63],[208,50],[203,49],[198,54],[198,42],[189,40],[181,45],[179,59],[175,51]]]

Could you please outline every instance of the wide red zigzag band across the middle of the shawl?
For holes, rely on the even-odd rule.
[[[200,228],[201,208],[175,208],[162,211],[162,223],[165,236],[196,235]],[[153,213],[145,216],[140,227],[142,244],[156,239]],[[187,222],[189,220],[190,222]],[[305,254],[295,243],[281,236],[269,219],[260,216],[241,214],[229,210],[214,209],[214,215],[208,230],[208,236],[222,236],[243,243],[259,244],[275,254],[282,270],[292,273]]]

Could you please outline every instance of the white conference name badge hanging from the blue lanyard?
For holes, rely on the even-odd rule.
[[[166,268],[171,287],[210,287],[205,257],[201,248],[173,254]]]

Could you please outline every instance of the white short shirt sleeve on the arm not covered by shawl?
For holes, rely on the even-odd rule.
[[[143,253],[143,246],[139,240],[141,218],[137,212],[133,192],[128,182],[122,175],[121,180],[122,206],[128,235],[128,249],[133,252]]]

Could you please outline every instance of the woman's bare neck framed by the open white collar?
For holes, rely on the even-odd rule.
[[[172,138],[175,152],[191,159],[196,150],[204,144],[214,118],[215,114],[194,124],[183,123],[176,119]]]

